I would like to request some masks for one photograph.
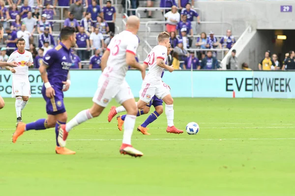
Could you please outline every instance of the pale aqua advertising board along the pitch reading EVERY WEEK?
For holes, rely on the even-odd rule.
[[[71,87],[65,97],[92,97],[101,71],[71,71]],[[163,81],[173,97],[295,98],[295,72],[282,71],[175,71],[166,72]],[[32,98],[41,98],[42,79],[38,70],[29,71]],[[139,71],[128,71],[126,81],[135,97],[141,89]],[[0,95],[11,97],[12,75],[0,70]]]

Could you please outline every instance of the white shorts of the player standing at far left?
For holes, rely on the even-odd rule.
[[[29,80],[12,80],[11,97],[16,96],[31,97]]]

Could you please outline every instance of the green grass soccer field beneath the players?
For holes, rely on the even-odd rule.
[[[197,135],[166,133],[163,114],[150,136],[134,131],[141,158],[119,154],[122,132],[102,115],[70,132],[75,155],[55,154],[54,129],[28,131],[16,144],[14,99],[0,110],[1,196],[294,196],[295,100],[175,98],[175,125],[197,122]],[[66,98],[69,119],[91,98]],[[153,111],[153,108],[151,108]],[[148,116],[137,118],[136,126]],[[29,123],[46,118],[31,98]]]

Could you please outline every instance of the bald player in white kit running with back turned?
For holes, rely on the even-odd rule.
[[[58,142],[61,147],[66,145],[68,132],[78,124],[93,117],[98,117],[112,98],[126,108],[127,115],[124,122],[123,141],[120,147],[121,154],[131,156],[143,156],[143,153],[131,146],[131,136],[135,125],[137,107],[130,87],[125,81],[128,65],[139,69],[142,74],[146,71],[135,60],[139,40],[136,36],[140,21],[136,16],[130,16],[127,20],[126,30],[116,35],[110,42],[107,50],[101,58],[102,75],[98,80],[98,88],[92,99],[93,105],[76,115],[59,128]]]

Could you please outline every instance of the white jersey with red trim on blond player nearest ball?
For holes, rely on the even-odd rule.
[[[148,65],[148,73],[145,80],[162,80],[161,75],[164,68],[157,65],[157,58],[163,59],[164,62],[167,60],[167,48],[165,46],[155,46],[149,53],[145,60],[145,64]]]

